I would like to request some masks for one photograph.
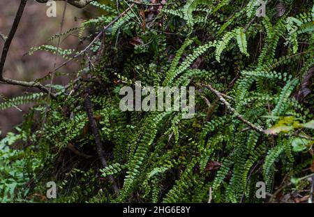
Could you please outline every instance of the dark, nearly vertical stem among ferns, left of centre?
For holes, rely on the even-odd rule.
[[[103,150],[103,144],[101,142],[99,130],[96,124],[96,121],[94,119],[94,114],[93,114],[93,105],[91,104],[91,99],[89,98],[89,88],[85,89],[85,100],[84,100],[84,107],[87,112],[87,117],[89,119],[89,125],[91,126],[91,130],[93,132],[94,138],[95,138],[95,143],[96,143],[96,150],[98,157],[101,161],[101,164],[103,167],[107,167],[107,160],[105,158],[105,151]],[[119,193],[119,188],[114,181],[114,177],[112,175],[109,176],[110,182],[112,184],[112,188],[115,193]]]

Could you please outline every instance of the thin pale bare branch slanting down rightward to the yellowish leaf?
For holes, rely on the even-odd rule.
[[[225,96],[225,94],[220,93],[219,91],[217,91],[216,89],[214,89],[213,87],[211,87],[211,84],[200,84],[203,87],[206,87],[207,89],[209,89],[211,92],[215,93],[215,95],[218,97],[218,99],[220,100],[220,102],[222,102],[225,107],[227,107],[227,110],[229,110],[230,112],[232,112],[234,114],[235,117],[237,117],[237,119],[239,119],[240,121],[242,121],[244,124],[248,125],[252,130],[255,130],[257,133],[262,133],[264,135],[269,135],[269,133],[267,133],[266,130],[264,130],[264,128],[262,128],[262,126],[257,126],[253,123],[251,123],[250,121],[246,120],[241,114],[239,114],[236,110],[234,110],[234,108],[230,105],[230,103],[227,102],[227,100],[225,100],[225,98],[223,98],[223,96]],[[271,134],[271,135],[276,135],[278,136],[279,134]],[[306,140],[313,140],[312,137],[308,137],[306,135],[299,135],[299,134],[281,134],[285,137],[291,137],[291,136],[296,136],[296,137],[300,137]]]

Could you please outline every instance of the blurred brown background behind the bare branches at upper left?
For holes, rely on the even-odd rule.
[[[0,1],[0,33],[7,36],[10,27],[13,24],[15,13],[20,4],[20,0],[1,0]],[[61,18],[63,13],[64,2],[57,1],[57,17],[47,17],[46,11],[49,8],[45,3],[38,3],[35,0],[29,0],[24,10],[20,26],[17,29],[13,43],[10,46],[4,75],[16,80],[33,81],[37,78],[44,77],[53,69],[55,56],[48,52],[35,52],[29,56],[31,47],[50,44],[57,46],[58,40],[48,41],[54,34],[59,33],[61,27]],[[83,9],[75,8],[71,5],[66,7],[66,17],[63,24],[63,32],[73,27],[79,27],[86,17],[91,17],[93,8],[86,7]],[[77,49],[78,39],[75,34],[63,37],[61,48]],[[3,41],[0,40],[0,50],[3,48]],[[26,54],[26,55],[25,55]],[[57,59],[57,66],[64,60]],[[75,74],[78,66],[76,63],[70,63],[61,68],[61,73]],[[57,77],[54,83],[66,84],[68,77]],[[21,96],[27,92],[37,91],[36,89],[26,89],[22,87],[0,84],[0,94],[6,98]],[[0,95],[0,103],[3,98]],[[0,111],[0,137],[3,137],[8,131],[13,130],[13,126],[22,121],[23,114],[27,112],[29,105],[22,105],[22,112],[15,108]]]

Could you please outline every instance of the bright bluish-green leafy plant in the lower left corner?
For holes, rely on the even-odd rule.
[[[22,129],[17,134],[8,133],[0,141],[0,202],[31,202],[27,199],[31,180],[43,169],[43,159],[36,158],[30,148],[13,147],[17,142],[27,142]]]

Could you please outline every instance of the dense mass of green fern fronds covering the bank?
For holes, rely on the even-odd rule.
[[[285,176],[303,176],[313,160],[308,153],[313,140],[304,138],[313,137],[313,93],[307,91],[313,80],[313,3],[285,1],[278,17],[276,1],[269,1],[267,16],[254,17],[255,2],[171,0],[158,10],[135,4],[91,46],[90,59],[79,60],[80,79],[54,88],[51,105],[38,93],[5,99],[0,110],[35,105],[19,134],[0,142],[7,156],[1,165],[16,171],[13,178],[0,174],[3,198],[27,198],[53,180],[60,194],[53,202],[207,202],[209,188],[213,202],[262,202],[255,197],[257,181],[274,193]],[[130,6],[120,2],[117,13],[115,1],[92,4],[106,15],[67,33],[80,30],[80,40],[91,41]],[[36,50],[64,58],[76,53],[52,45],[31,51]],[[194,117],[122,112],[119,90],[135,87],[137,80],[143,87],[195,87]],[[223,93],[234,112],[201,84]],[[87,88],[107,167],[100,164],[89,127]],[[257,132],[239,115],[265,131]],[[21,170],[25,164],[27,174]],[[36,187],[16,190],[26,189],[33,174]]]

